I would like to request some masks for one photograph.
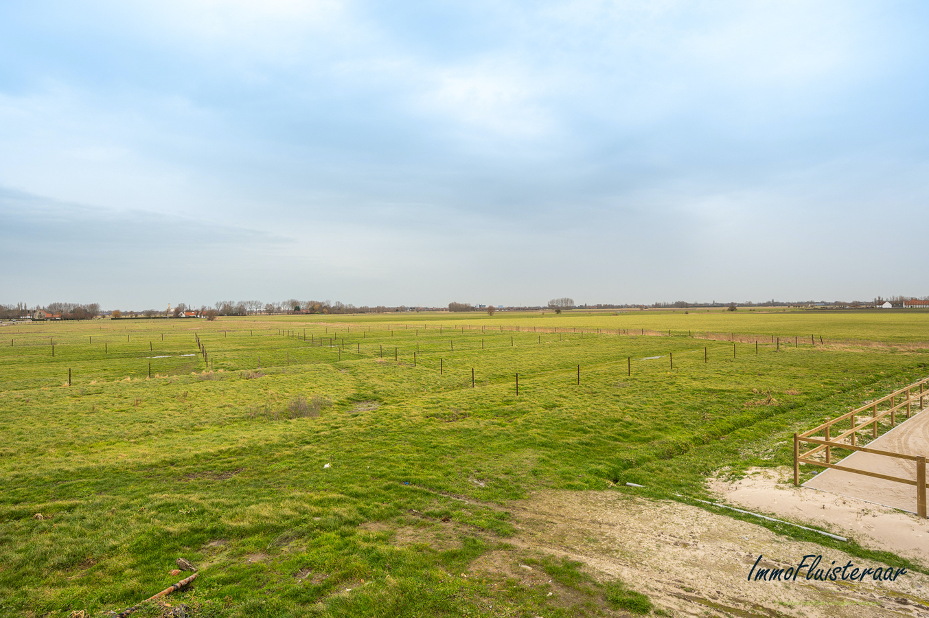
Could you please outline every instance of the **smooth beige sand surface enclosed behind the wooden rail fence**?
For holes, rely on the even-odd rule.
[[[871,441],[868,447],[891,453],[929,456],[929,410],[923,410],[905,423],[897,425],[877,440]],[[916,480],[916,462],[893,457],[854,453],[845,457],[841,465]],[[804,486],[916,512],[916,488],[892,480],[872,479],[852,472],[824,469],[813,479],[807,480]]]

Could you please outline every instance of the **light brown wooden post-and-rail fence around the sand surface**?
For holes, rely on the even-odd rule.
[[[919,388],[919,392],[913,391]],[[902,399],[897,401],[898,398]],[[926,458],[924,455],[909,455],[882,451],[879,449],[870,449],[858,446],[856,442],[857,432],[862,429],[871,429],[871,439],[878,436],[878,427],[888,424],[890,428],[896,427],[897,413],[902,414],[906,409],[907,418],[909,418],[910,408],[914,401],[919,401],[919,409],[925,405],[924,400],[929,398],[929,377],[924,377],[918,382],[910,384],[908,387],[900,388],[879,400],[866,403],[860,408],[856,408],[847,414],[833,418],[814,427],[804,433],[793,434],[793,484],[800,484],[800,464],[810,464],[812,466],[831,467],[835,470],[844,470],[853,472],[875,479],[892,480],[895,482],[905,483],[916,486],[916,512],[921,518],[926,517]],[[886,410],[880,408],[887,406]],[[862,422],[858,420],[864,415]],[[835,427],[839,424],[847,423],[847,428],[842,429]],[[822,433],[822,437],[816,437],[816,434]],[[835,435],[833,435],[835,434]],[[801,443],[814,445],[812,449],[801,453]],[[895,457],[896,459],[906,459],[916,462],[916,480],[901,479],[886,474],[870,472],[868,470],[859,470],[853,467],[837,466],[832,463],[832,449],[839,448],[847,451],[858,451],[861,453],[870,453]],[[825,454],[823,459],[812,459],[813,455],[820,457]]]

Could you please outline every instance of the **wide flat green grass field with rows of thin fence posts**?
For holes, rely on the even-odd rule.
[[[183,577],[178,557],[200,567],[167,599],[189,615],[668,613],[577,561],[517,552],[538,585],[474,565],[512,549],[513,501],[706,498],[713,474],[790,465],[794,431],[929,375],[918,312],[107,320],[0,337],[9,615],[123,610]]]

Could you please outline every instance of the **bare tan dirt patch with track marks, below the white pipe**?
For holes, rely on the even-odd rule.
[[[616,492],[547,492],[507,510],[519,531],[506,540],[514,559],[530,551],[580,560],[596,577],[619,577],[674,615],[929,617],[929,576],[921,573],[893,582],[807,581],[805,572],[790,582],[749,581],[759,555],[758,567],[769,569],[807,555],[822,555],[820,566],[883,565],[698,507]]]

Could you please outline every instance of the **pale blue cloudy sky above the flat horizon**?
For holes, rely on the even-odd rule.
[[[929,295],[923,2],[0,3],[0,303]]]

